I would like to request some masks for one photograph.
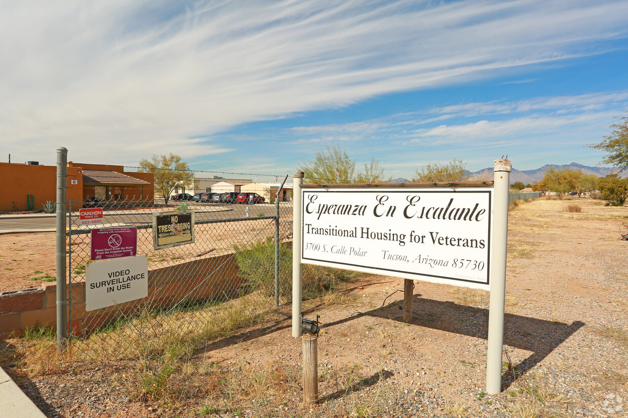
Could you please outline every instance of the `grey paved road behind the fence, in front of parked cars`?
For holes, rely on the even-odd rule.
[[[239,204],[225,204],[221,206],[209,204],[205,206],[203,204],[197,204],[194,206],[190,206],[190,209],[195,210],[194,216],[197,221],[205,219],[233,219],[246,217],[246,208],[246,205]],[[275,207],[271,204],[249,205],[248,208],[249,217],[257,216],[260,213],[263,213],[264,216],[273,216],[275,213]],[[175,210],[175,208],[173,208],[173,210]],[[291,211],[291,208],[281,207],[280,211],[281,213],[286,213],[286,211]],[[57,220],[55,219],[55,217],[45,217],[41,215],[12,218],[13,219],[6,219],[5,217],[3,219],[3,216],[0,216],[0,233],[41,230],[54,231],[57,224]],[[73,217],[73,219],[77,219],[77,217]],[[103,224],[150,224],[151,222],[153,222],[152,212],[139,214],[128,212],[124,214],[111,214],[110,212],[109,214],[107,214],[107,212],[105,212],[103,216]],[[74,222],[73,224],[76,225],[76,223]]]

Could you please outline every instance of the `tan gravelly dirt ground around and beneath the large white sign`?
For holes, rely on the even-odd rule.
[[[568,203],[580,204],[582,212],[566,212]],[[399,320],[403,280],[367,274],[355,275],[333,297],[306,304],[308,316],[321,315],[323,323],[322,402],[313,409],[301,406],[301,341],[291,337],[287,315],[208,342],[194,360],[195,379],[207,380],[193,403],[133,397],[124,390],[128,377],[116,372],[120,365],[38,376],[13,365],[8,372],[50,417],[623,417],[628,241],[617,238],[627,222],[628,207],[592,199],[541,199],[511,210],[499,395],[484,392],[488,292],[415,281],[416,316],[406,324]],[[32,287],[35,274],[53,274],[53,245],[53,234],[4,236],[0,260],[9,274],[0,288]],[[5,267],[8,260],[13,270]],[[223,380],[198,372],[203,365],[220,368]],[[276,387],[244,391],[265,370],[283,376],[273,380]],[[181,373],[171,377],[173,386],[186,379]],[[212,385],[224,389],[225,382],[239,382],[240,392],[230,393],[246,398],[230,399],[239,405],[236,413],[210,395]],[[263,397],[254,395],[260,392]]]

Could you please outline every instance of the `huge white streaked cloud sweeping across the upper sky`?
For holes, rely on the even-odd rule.
[[[133,163],[220,154],[233,145],[199,136],[240,123],[610,50],[628,2],[26,0],[1,12],[3,149]]]

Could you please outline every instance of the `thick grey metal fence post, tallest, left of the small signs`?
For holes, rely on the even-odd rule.
[[[65,212],[67,202],[68,150],[57,148],[57,352],[65,346],[67,337],[67,295],[65,295]]]

